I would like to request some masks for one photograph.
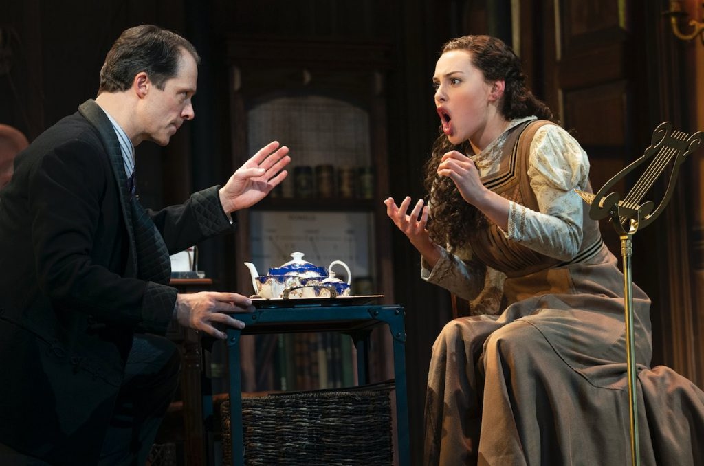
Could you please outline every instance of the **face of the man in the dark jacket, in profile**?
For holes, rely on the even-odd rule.
[[[165,146],[184,120],[194,118],[191,98],[196,94],[197,80],[196,61],[190,53],[182,51],[175,77],[165,82],[163,90],[151,84],[144,97],[141,139]]]

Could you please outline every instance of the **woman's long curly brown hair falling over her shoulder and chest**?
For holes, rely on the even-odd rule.
[[[453,50],[470,53],[472,65],[484,73],[486,82],[505,82],[499,112],[506,120],[535,115],[541,120],[554,120],[545,103],[536,99],[526,87],[520,58],[500,39],[489,36],[463,36],[447,42],[440,54]],[[454,182],[437,174],[440,160],[449,151],[472,153],[469,141],[455,146],[442,132],[435,140],[432,156],[425,164],[425,189],[432,203],[432,220],[427,229],[437,244],[448,244],[451,250],[466,246],[467,227],[475,225],[479,210],[467,203]]]

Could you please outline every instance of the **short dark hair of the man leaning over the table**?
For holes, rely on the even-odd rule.
[[[165,82],[178,73],[182,50],[200,63],[196,48],[179,34],[153,25],[130,27],[120,34],[105,58],[98,94],[130,89],[134,76],[142,71],[163,90]]]

